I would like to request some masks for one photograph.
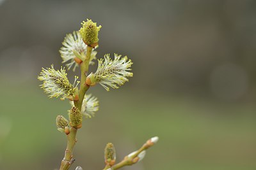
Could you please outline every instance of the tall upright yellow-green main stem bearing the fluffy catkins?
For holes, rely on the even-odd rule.
[[[74,105],[81,111],[81,107],[83,104],[84,94],[89,89],[90,86],[86,85],[85,80],[87,77],[88,69],[89,69],[89,62],[90,57],[92,54],[92,47],[87,46],[86,48],[86,57],[85,60],[81,63],[81,82],[80,82],[80,89],[79,89],[79,100],[74,101]],[[67,149],[65,150],[65,157],[61,161],[60,170],[68,170],[71,164],[74,162],[74,159],[72,158],[73,155],[73,149],[76,145],[76,133],[77,129],[74,127],[71,127],[70,133],[67,135],[68,141],[67,141]]]

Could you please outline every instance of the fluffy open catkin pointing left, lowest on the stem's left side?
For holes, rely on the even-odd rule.
[[[64,67],[61,67],[60,70],[55,70],[53,65],[51,65],[51,68],[42,68],[38,80],[43,81],[40,86],[46,94],[49,94],[50,98],[62,96],[61,100],[64,100],[65,98],[74,97],[76,87],[68,81]]]

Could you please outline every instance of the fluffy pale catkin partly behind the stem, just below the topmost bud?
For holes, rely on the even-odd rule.
[[[75,71],[76,67],[78,67],[85,58],[87,45],[84,44],[79,31],[74,31],[72,34],[67,34],[62,42],[62,45],[63,46],[61,46],[59,51],[61,58],[63,59],[62,63],[69,62],[66,64],[68,70],[74,66],[73,71]],[[94,64],[93,59],[96,59],[96,54],[97,52],[93,49],[89,64]]]

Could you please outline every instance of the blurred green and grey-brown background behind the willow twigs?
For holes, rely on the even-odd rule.
[[[152,136],[124,169],[256,169],[255,17],[247,0],[0,0],[0,169],[60,166],[55,118],[69,104],[48,99],[37,75],[61,66],[65,34],[86,18],[102,25],[97,57],[128,55],[134,77],[89,90],[100,110],[77,134],[73,169],[102,169],[108,142],[122,160]]]

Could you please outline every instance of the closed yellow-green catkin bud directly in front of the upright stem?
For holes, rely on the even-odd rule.
[[[81,128],[82,125],[82,114],[79,111],[78,108],[76,108],[76,106],[73,106],[70,110],[69,110],[69,120],[70,120],[70,126],[79,129]]]

